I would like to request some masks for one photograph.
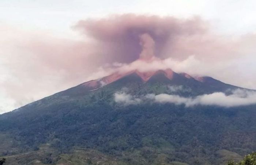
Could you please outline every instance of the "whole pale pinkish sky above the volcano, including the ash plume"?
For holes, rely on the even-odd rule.
[[[255,6],[253,0],[1,0],[0,114],[113,67],[139,67],[135,60],[145,52],[174,71],[256,89]]]

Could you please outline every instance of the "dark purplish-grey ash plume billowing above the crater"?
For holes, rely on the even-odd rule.
[[[199,17],[177,19],[124,14],[80,20],[73,28],[97,43],[98,49],[104,49],[109,62],[114,59],[115,62],[129,63],[139,57],[168,57],[170,54],[164,53],[167,44],[173,45],[179,36],[205,35],[208,31],[206,24]]]

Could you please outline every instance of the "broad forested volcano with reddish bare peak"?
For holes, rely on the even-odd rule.
[[[116,72],[0,115],[0,156],[7,164],[225,164],[255,150],[255,104],[142,98],[238,89],[254,92],[171,69]]]

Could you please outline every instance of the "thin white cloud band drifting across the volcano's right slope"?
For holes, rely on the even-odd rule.
[[[121,99],[120,99],[121,98]],[[220,107],[236,107],[242,105],[256,104],[256,92],[237,89],[226,95],[223,92],[199,95],[196,97],[182,97],[178,95],[168,95],[162,93],[159,95],[147,94],[143,96],[132,96],[125,92],[115,93],[114,100],[124,105],[139,104],[145,101],[154,101],[155,103],[173,103],[176,105],[184,104],[185,107],[195,105],[217,105]],[[138,100],[138,101],[135,101]]]

